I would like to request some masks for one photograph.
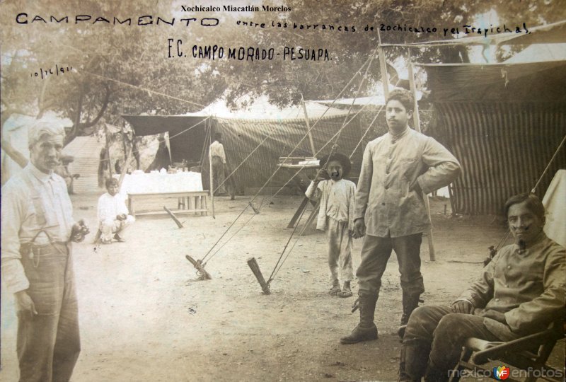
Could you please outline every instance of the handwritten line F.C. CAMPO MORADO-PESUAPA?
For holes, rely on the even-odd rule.
[[[281,50],[260,47],[222,47],[219,45],[189,45],[183,48],[183,40],[168,39],[168,58],[192,57],[195,59],[236,59],[239,61],[265,61],[282,58],[283,61],[303,59],[305,61],[330,61],[327,49],[305,47],[282,47]]]

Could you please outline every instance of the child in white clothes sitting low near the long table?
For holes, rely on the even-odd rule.
[[[108,192],[98,198],[100,241],[103,244],[110,244],[113,237],[116,241],[123,243],[125,242],[123,237],[125,229],[136,219],[128,215],[124,197],[118,193],[120,186],[115,178],[106,180],[106,190]]]

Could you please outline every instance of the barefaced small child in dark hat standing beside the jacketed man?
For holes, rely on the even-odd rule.
[[[320,199],[316,229],[328,233],[328,265],[330,267],[330,295],[352,296],[350,282],[352,267],[352,230],[354,228],[354,195],[356,185],[342,179],[350,173],[350,158],[335,153],[320,158],[320,171],[305,192],[308,199]],[[323,170],[325,168],[325,171]],[[326,179],[323,175],[328,174]],[[340,288],[340,278],[344,287]]]

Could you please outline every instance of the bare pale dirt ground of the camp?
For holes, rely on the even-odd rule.
[[[73,195],[74,216],[96,222],[98,195]],[[250,222],[243,214],[206,269],[193,281],[185,259],[201,259],[250,197],[216,198],[212,216],[139,216],[126,243],[96,247],[93,234],[74,246],[82,351],[73,381],[394,381],[400,342],[401,291],[395,255],[383,276],[376,309],[379,340],[340,345],[357,324],[354,297],[329,296],[323,233],[301,236],[261,293],[246,260],[255,257],[269,277],[289,240],[286,228],[301,197],[275,197]],[[156,201],[154,209],[163,204]],[[168,205],[175,207],[175,201]],[[446,205],[446,214],[444,206]],[[151,207],[151,206],[146,206]],[[139,208],[138,208],[139,210]],[[505,232],[494,216],[453,217],[446,199],[432,202],[436,261],[422,244],[425,303],[448,303],[480,272],[487,248]],[[243,227],[243,228],[242,228]],[[291,241],[292,245],[295,242]],[[354,267],[361,241],[354,243]],[[354,281],[354,294],[357,284]],[[16,381],[13,297],[1,295],[2,381]],[[564,360],[564,342],[555,354]]]

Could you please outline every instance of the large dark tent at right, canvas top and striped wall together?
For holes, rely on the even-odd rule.
[[[422,66],[446,143],[463,167],[454,183],[456,212],[501,213],[507,197],[536,185],[564,137],[566,61]],[[565,164],[562,149],[539,196]]]

